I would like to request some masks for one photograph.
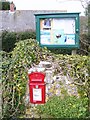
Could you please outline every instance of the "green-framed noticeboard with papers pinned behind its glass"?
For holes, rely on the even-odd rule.
[[[35,14],[39,45],[52,48],[79,48],[79,13]]]

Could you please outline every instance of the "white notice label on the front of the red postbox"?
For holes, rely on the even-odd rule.
[[[41,89],[33,88],[33,101],[42,101]]]

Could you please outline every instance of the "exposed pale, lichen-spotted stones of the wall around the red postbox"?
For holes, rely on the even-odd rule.
[[[59,69],[58,62],[40,61],[38,65],[33,66],[28,70],[30,75],[32,72],[41,72],[45,74],[45,102],[47,102],[53,96],[60,96],[63,98],[66,94],[69,96],[79,97],[77,86],[74,84],[73,79],[68,75],[62,73],[56,74],[56,69]],[[66,94],[65,94],[66,91]],[[29,80],[27,83],[27,91],[25,95],[26,113],[25,118],[43,118],[42,114],[39,114],[36,106],[30,102],[29,92]],[[44,104],[42,104],[44,105]]]

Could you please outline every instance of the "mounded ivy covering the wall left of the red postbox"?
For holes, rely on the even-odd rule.
[[[49,55],[46,48],[40,48],[34,39],[16,43],[11,53],[1,52],[3,116],[15,117],[25,112],[25,92],[28,82],[28,69],[34,63]]]

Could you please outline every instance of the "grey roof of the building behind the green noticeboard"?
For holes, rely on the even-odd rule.
[[[35,13],[66,12],[61,10],[16,10],[0,11],[0,31],[35,31]]]

